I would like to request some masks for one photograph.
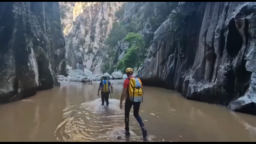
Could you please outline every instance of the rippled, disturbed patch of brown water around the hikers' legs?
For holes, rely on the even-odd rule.
[[[101,98],[99,98],[82,103],[80,107],[75,108],[76,112],[74,112],[74,107],[68,105],[64,109],[63,118],[65,120],[55,131],[57,140],[126,141],[123,124],[124,111],[120,110],[119,102],[120,100],[110,99],[109,107],[107,107],[101,105]],[[139,127],[136,127],[135,121],[135,118],[130,120],[130,128],[137,132]],[[123,136],[123,139],[118,140],[118,136]],[[143,141],[143,139],[131,131],[129,141]]]

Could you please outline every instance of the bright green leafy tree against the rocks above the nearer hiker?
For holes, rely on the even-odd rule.
[[[139,68],[143,61],[146,58],[146,49],[145,44],[139,34],[128,33],[124,39],[124,41],[129,42],[131,48],[127,50],[127,53],[124,57],[119,61],[116,68],[121,70],[122,73],[125,73],[125,70],[130,68]],[[129,47],[130,47],[129,45]]]

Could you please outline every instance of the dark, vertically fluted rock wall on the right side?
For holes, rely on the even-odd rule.
[[[179,4],[154,33],[138,76],[187,99],[256,115],[255,4]]]

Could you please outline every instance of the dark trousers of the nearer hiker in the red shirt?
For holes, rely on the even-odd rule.
[[[133,102],[129,98],[125,100],[125,105],[124,105],[124,122],[125,122],[125,130],[129,131],[129,115],[130,115],[130,110],[133,105],[133,116],[136,118],[136,120],[139,122],[140,127],[144,127],[144,124],[139,116],[139,108],[140,108],[140,102]]]

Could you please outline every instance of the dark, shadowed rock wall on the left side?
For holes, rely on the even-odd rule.
[[[65,41],[58,2],[1,2],[0,102],[60,85]]]

